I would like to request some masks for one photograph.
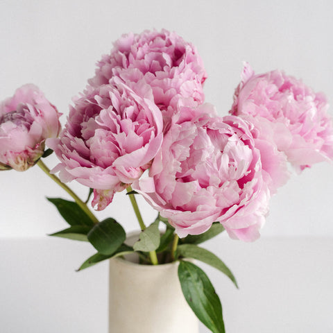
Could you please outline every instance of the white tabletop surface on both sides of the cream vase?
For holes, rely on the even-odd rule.
[[[200,264],[219,294],[227,333],[333,332],[333,239],[216,237],[203,244],[240,289]],[[108,263],[76,268],[94,253],[66,239],[0,239],[3,333],[107,333]],[[210,332],[200,325],[200,333]]]

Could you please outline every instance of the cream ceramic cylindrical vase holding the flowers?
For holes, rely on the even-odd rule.
[[[135,261],[135,259],[131,259]],[[109,333],[198,333],[178,280],[178,262],[110,259]]]

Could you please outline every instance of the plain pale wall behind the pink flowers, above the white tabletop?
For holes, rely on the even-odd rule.
[[[284,69],[325,92],[332,103],[332,13],[329,1],[314,6],[313,1],[2,0],[0,99],[33,82],[64,114],[65,123],[71,97],[83,90],[96,60],[114,40],[130,31],[167,28],[196,45],[208,73],[206,101],[220,115],[232,104],[243,60],[257,73]],[[56,162],[53,156],[46,160],[49,167]],[[317,164],[294,175],[271,200],[262,234],[332,237],[332,168]],[[37,167],[3,171],[0,184],[0,237],[40,237],[64,227],[45,196],[67,196]],[[87,194],[76,183],[71,187]],[[143,210],[146,221],[153,220],[155,212],[147,205]],[[137,228],[124,194],[98,216],[114,216],[128,230]]]

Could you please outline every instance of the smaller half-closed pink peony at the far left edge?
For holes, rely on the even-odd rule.
[[[57,137],[60,113],[35,85],[0,103],[0,170],[26,171],[43,155],[45,140]]]

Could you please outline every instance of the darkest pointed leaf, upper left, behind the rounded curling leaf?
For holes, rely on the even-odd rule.
[[[57,207],[58,212],[69,225],[94,225],[92,219],[74,201],[62,198],[47,198],[47,200]]]

